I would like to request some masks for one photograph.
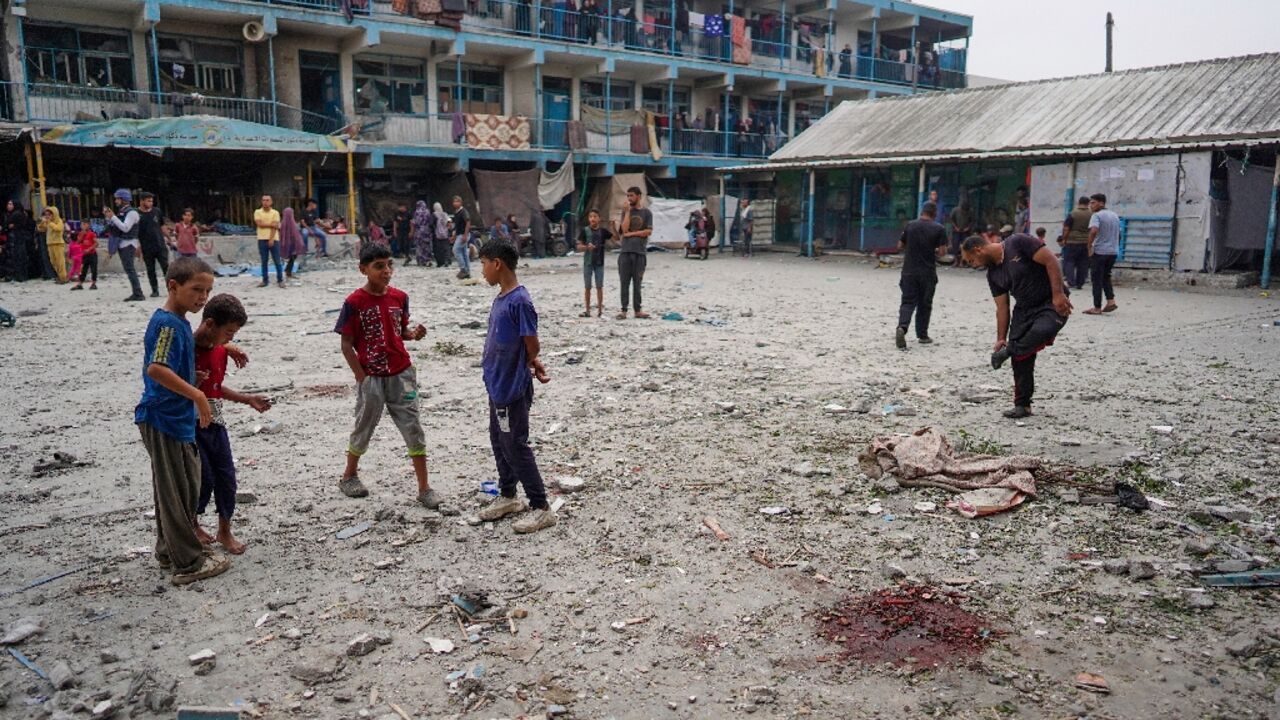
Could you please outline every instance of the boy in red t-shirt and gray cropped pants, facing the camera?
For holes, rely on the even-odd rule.
[[[367,242],[360,249],[360,273],[365,287],[347,296],[333,332],[342,334],[342,356],[356,377],[356,428],[347,445],[347,469],[338,489],[347,497],[366,497],[369,491],[360,482],[360,456],[369,450],[369,441],[383,416],[390,413],[408,446],[413,474],[417,475],[417,501],[435,510],[439,495],[426,479],[426,437],[417,416],[417,373],[404,350],[403,337],[422,340],[426,328],[408,329],[408,296],[390,287],[390,247]]]

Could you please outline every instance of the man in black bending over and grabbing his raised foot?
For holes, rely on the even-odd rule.
[[[1062,269],[1042,241],[1023,233],[992,243],[982,236],[969,236],[961,252],[969,265],[987,269],[987,283],[996,299],[991,366],[1000,369],[1005,360],[1014,361],[1014,407],[1005,416],[1025,418],[1032,414],[1036,393],[1036,355],[1053,345],[1071,314]],[[1016,301],[1012,316],[1010,295]]]

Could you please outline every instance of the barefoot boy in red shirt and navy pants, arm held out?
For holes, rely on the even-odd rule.
[[[271,401],[260,395],[244,395],[223,386],[227,378],[227,359],[232,357],[243,366],[239,351],[228,345],[236,340],[248,314],[234,295],[215,295],[205,305],[205,315],[196,327],[196,375],[200,378],[200,391],[209,398],[214,419],[207,428],[196,430],[196,446],[200,447],[200,505],[196,511],[205,514],[209,498],[214,498],[218,509],[218,536],[210,536],[196,520],[196,537],[209,544],[218,541],[227,552],[241,555],[244,543],[232,534],[232,515],[236,512],[236,460],[232,457],[232,443],[227,436],[227,421],[223,420],[223,400],[243,402],[259,413],[271,409]]]

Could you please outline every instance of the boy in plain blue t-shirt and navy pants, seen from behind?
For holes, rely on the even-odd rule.
[[[498,497],[480,511],[481,520],[498,520],[526,509],[516,498],[524,486],[532,512],[511,524],[517,533],[534,533],[556,524],[547,505],[547,489],[529,447],[529,406],[534,380],[550,382],[538,354],[538,310],[529,291],[516,278],[520,255],[507,242],[489,241],[480,249],[481,273],[498,286],[489,309],[489,333],[484,342],[484,384],[489,391],[489,442],[498,464]]]

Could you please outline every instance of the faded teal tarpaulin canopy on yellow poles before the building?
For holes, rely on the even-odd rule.
[[[45,132],[41,141],[50,145],[137,147],[150,151],[163,151],[166,147],[179,150],[276,150],[284,152],[347,151],[347,143],[340,137],[214,115],[59,126]]]

